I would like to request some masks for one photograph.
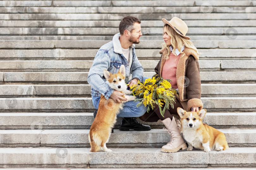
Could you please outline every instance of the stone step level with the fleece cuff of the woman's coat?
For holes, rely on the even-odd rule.
[[[256,97],[202,97],[208,111],[255,111]],[[91,97],[0,98],[1,112],[84,112],[93,111]]]

